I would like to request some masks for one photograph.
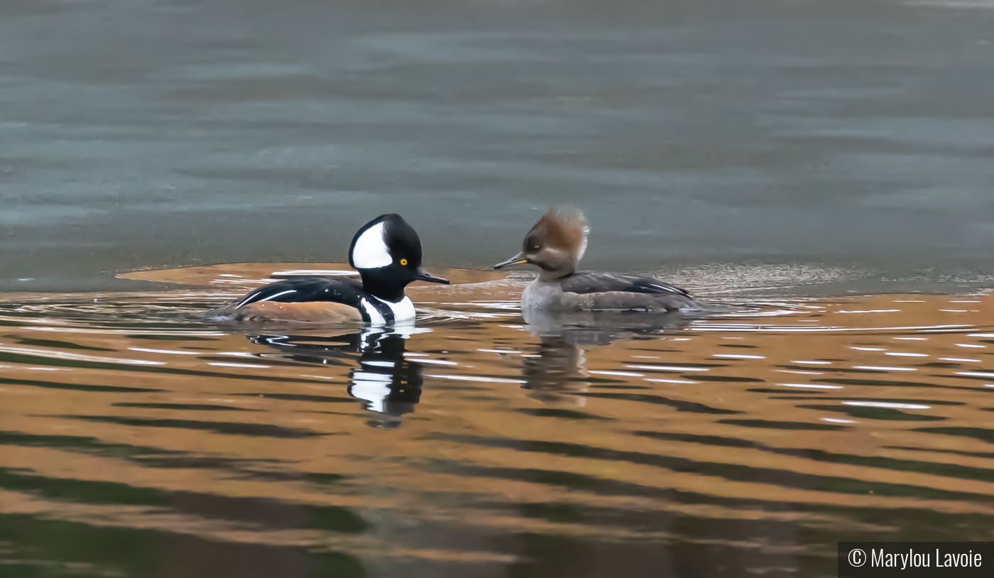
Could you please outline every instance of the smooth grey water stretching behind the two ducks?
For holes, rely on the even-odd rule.
[[[4,2],[0,288],[343,261],[386,211],[482,267],[563,201],[592,267],[983,283],[991,7]]]

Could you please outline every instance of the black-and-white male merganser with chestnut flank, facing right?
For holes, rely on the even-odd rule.
[[[414,321],[404,289],[415,281],[448,281],[421,269],[421,241],[397,214],[381,215],[352,238],[349,265],[362,284],[339,277],[298,277],[255,289],[212,312],[239,321],[363,321],[388,325]]]

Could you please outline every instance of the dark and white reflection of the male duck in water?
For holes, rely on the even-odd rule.
[[[253,343],[268,345],[287,359],[321,365],[357,365],[349,373],[348,393],[363,400],[367,410],[400,417],[414,412],[421,396],[422,366],[405,358],[411,327],[371,327],[335,336],[255,335]],[[355,354],[359,353],[358,359]]]

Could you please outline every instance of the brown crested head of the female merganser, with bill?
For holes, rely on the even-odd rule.
[[[586,251],[589,232],[580,209],[553,207],[525,236],[521,253],[498,263],[494,269],[527,263],[542,270],[539,275],[542,281],[573,275]]]

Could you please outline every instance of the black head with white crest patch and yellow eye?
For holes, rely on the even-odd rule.
[[[349,265],[363,279],[363,289],[388,301],[404,298],[404,288],[415,281],[448,285],[448,280],[421,269],[421,240],[403,217],[381,215],[352,238]]]

